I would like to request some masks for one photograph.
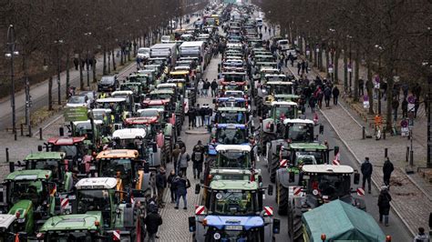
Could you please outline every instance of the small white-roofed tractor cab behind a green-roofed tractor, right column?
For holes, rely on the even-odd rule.
[[[284,119],[285,139],[292,143],[314,142],[314,121],[310,119]]]

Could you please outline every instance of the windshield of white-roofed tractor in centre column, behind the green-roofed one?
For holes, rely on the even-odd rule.
[[[243,151],[221,151],[216,166],[247,169],[251,167],[251,157]]]

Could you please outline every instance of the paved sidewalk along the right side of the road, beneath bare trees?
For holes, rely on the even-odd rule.
[[[309,73],[308,78],[314,78],[316,75],[318,73],[312,71]],[[343,89],[340,88],[340,90]],[[373,182],[375,187],[378,188],[383,185],[382,166],[384,164],[385,148],[388,148],[388,156],[396,166],[391,178],[392,208],[401,217],[411,233],[416,233],[417,227],[427,227],[428,214],[432,211],[432,186],[427,184],[418,174],[406,175],[405,160],[406,146],[409,145],[408,140],[406,137],[389,135],[386,136],[386,140],[362,139],[362,126],[367,126],[367,124],[354,110],[347,106],[344,100],[339,100],[339,105],[333,106],[332,100],[330,107],[323,106],[320,110],[322,114],[320,118],[324,116],[333,126],[337,136],[355,156],[359,165],[363,162],[365,156],[370,157],[374,165]],[[426,159],[427,154],[427,148],[419,140],[420,138],[420,136],[417,136],[413,142],[415,164],[417,165],[418,161]]]

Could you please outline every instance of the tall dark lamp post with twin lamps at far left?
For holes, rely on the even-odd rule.
[[[6,53],[7,58],[11,58],[11,107],[12,107],[12,132],[16,140],[16,116],[15,116],[15,81],[14,81],[14,56],[19,55],[15,50],[15,29],[14,25],[9,25],[7,28],[7,46],[9,53]]]

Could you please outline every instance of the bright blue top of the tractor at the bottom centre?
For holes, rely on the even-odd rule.
[[[254,227],[263,227],[264,220],[259,216],[252,217],[235,217],[235,216],[207,216],[207,226],[224,229],[226,226],[242,226],[244,230]]]

